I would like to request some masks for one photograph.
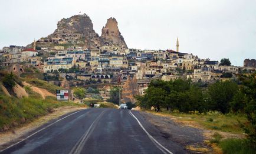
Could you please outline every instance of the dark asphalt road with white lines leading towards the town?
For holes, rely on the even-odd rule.
[[[137,111],[85,109],[62,116],[0,153],[188,153]]]

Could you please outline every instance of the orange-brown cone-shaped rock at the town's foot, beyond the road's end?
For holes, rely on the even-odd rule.
[[[124,83],[122,88],[122,102],[135,103],[134,96],[136,95],[139,95],[139,87],[137,85],[137,79],[136,77],[133,77],[133,79],[131,79],[130,76],[128,76],[126,83]]]

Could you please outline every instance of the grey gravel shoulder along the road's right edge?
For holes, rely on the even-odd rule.
[[[167,116],[139,112],[146,121],[159,129],[166,139],[178,143],[191,153],[211,153],[211,148],[204,143],[204,130],[176,123]]]

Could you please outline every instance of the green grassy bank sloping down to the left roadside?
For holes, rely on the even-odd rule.
[[[60,106],[80,105],[72,102],[59,102],[50,96],[45,99],[37,96],[18,99],[13,96],[0,95],[0,131],[4,132],[22,123],[31,122],[39,116],[53,112],[54,108]]]

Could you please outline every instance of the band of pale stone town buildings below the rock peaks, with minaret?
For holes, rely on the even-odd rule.
[[[118,85],[129,78],[136,78],[139,85],[137,94],[140,95],[143,95],[150,79],[170,81],[182,78],[193,82],[214,83],[236,78],[244,70],[255,70],[254,65],[233,66],[209,58],[198,58],[193,53],[180,52],[178,38],[176,51],[126,49],[114,45],[92,49],[83,46],[65,48],[61,45],[41,48],[37,42],[40,41],[34,41],[32,48],[13,45],[4,47],[0,52],[1,67],[18,64],[25,69],[33,66],[44,73],[46,81],[66,78],[73,86],[94,83]],[[61,78],[51,78],[56,73]]]

